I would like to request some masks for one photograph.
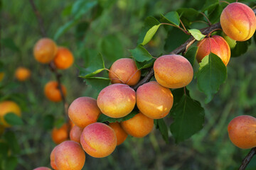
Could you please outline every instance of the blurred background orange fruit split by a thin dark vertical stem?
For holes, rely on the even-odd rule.
[[[63,86],[62,84],[60,84],[60,86],[63,91],[63,95],[66,96],[67,90],[65,86]],[[62,101],[60,90],[58,89],[57,81],[49,81],[44,87],[44,93],[50,101],[54,101],[54,102]]]

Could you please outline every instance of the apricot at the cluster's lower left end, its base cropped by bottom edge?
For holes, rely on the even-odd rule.
[[[85,164],[85,152],[78,142],[65,141],[54,151],[55,165],[61,170],[81,170]]]

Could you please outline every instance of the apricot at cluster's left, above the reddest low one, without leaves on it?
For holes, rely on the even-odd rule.
[[[70,120],[80,128],[85,128],[91,123],[97,122],[100,116],[100,108],[97,101],[90,97],[76,98],[68,108],[68,116]]]

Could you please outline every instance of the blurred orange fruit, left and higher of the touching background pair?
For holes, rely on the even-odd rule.
[[[33,55],[38,62],[46,64],[54,59],[57,50],[58,47],[53,40],[41,38],[33,47]]]

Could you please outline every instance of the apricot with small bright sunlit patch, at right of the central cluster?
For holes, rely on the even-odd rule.
[[[139,111],[152,119],[164,118],[171,111],[174,103],[170,89],[159,85],[156,81],[139,86],[136,94]]]

